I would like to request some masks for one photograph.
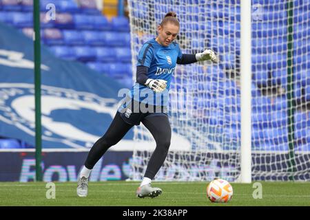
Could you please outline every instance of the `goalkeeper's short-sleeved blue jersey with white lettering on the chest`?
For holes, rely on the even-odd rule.
[[[172,74],[176,69],[178,58],[182,58],[178,43],[172,42],[169,46],[164,47],[155,39],[147,41],[138,54],[137,66],[149,67],[147,78],[166,80],[167,89],[156,93],[145,85],[135,83],[130,91],[130,97],[138,102],[167,106]]]

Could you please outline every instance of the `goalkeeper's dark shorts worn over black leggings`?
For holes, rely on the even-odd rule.
[[[119,108],[118,112],[127,124],[139,125],[144,118],[155,115],[164,115],[168,117],[167,107],[164,106],[145,104],[133,99],[123,102],[122,105],[123,107]]]

